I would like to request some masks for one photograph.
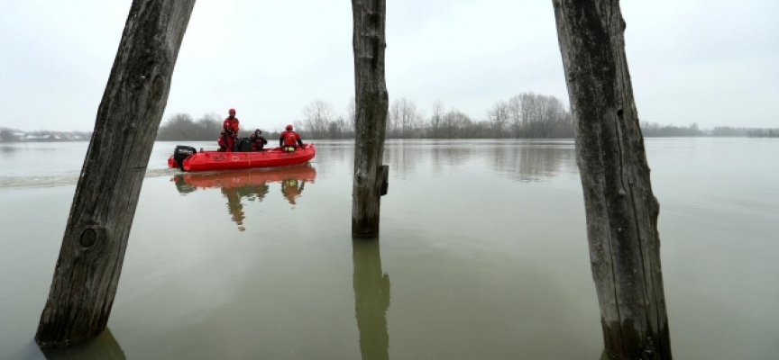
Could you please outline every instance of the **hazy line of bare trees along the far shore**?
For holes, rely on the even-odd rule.
[[[316,100],[303,108],[302,119],[292,121],[304,139],[353,139],[354,102],[345,114],[335,112],[332,104]],[[195,120],[186,113],[177,113],[160,126],[159,140],[216,140],[224,117],[207,113]],[[285,123],[287,121],[284,121]],[[254,130],[241,124],[241,137]],[[281,125],[261,129],[266,139],[278,139]],[[696,136],[776,136],[776,130],[736,129],[718,127],[703,131],[698,124],[689,126],[660,125],[642,122],[645,137]],[[455,108],[444,110],[443,103],[434,103],[426,114],[417,103],[399,98],[389,105],[388,139],[571,139],[574,135],[573,116],[564,103],[550,95],[521,93],[494,103],[482,120],[472,119]],[[774,132],[772,132],[774,131]],[[774,134],[774,135],[771,135]]]

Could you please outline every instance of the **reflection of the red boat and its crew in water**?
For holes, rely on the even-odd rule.
[[[198,188],[220,188],[227,198],[227,211],[243,231],[243,198],[261,202],[270,192],[270,184],[280,183],[281,194],[295,205],[306,183],[314,183],[316,169],[310,164],[300,166],[255,168],[220,173],[187,173],[175,175],[171,181],[179,193],[192,193]]]

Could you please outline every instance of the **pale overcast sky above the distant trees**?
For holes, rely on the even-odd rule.
[[[0,0],[0,126],[92,130],[130,0]],[[387,86],[475,119],[521,92],[568,103],[551,0],[387,0]],[[639,118],[779,127],[779,1],[623,0]],[[353,97],[348,0],[198,0],[163,121],[280,129]]]

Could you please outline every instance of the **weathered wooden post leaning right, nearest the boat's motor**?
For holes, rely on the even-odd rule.
[[[78,343],[105,329],[194,6],[195,0],[133,0],[35,336],[41,347]]]

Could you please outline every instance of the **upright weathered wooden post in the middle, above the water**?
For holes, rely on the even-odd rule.
[[[389,99],[384,79],[385,0],[352,0],[355,139],[352,235],[379,234],[381,160]]]

